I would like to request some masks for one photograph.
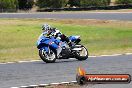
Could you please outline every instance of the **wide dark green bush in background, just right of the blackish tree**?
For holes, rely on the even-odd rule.
[[[68,0],[37,0],[37,6],[40,8],[61,8],[65,7]]]

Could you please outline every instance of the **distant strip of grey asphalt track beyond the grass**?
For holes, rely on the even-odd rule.
[[[0,13],[0,18],[100,19],[132,21],[132,12]]]

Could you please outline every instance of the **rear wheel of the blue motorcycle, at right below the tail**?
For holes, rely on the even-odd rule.
[[[82,50],[76,52],[76,59],[79,61],[86,60],[88,58],[88,50],[82,45]]]

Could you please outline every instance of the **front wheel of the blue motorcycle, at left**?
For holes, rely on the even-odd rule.
[[[54,63],[56,61],[56,54],[50,50],[50,54],[45,54],[44,50],[39,50],[40,58],[46,63]]]

